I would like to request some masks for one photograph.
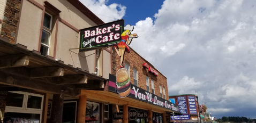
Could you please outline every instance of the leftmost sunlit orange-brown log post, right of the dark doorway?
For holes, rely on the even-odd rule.
[[[77,123],[85,123],[86,99],[84,95],[79,96]]]

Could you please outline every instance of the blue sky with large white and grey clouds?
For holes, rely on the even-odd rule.
[[[104,22],[125,19],[130,46],[213,117],[256,119],[256,1],[80,0]]]

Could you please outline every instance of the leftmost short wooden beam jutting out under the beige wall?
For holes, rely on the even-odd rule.
[[[0,69],[26,66],[29,56],[25,54],[8,55],[0,58]]]

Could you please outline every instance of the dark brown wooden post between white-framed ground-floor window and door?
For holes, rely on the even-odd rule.
[[[52,97],[51,123],[62,123],[64,97],[62,94],[54,94]]]

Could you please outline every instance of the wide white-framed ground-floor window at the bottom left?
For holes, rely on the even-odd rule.
[[[8,92],[4,121],[41,122],[43,95],[27,92]]]

